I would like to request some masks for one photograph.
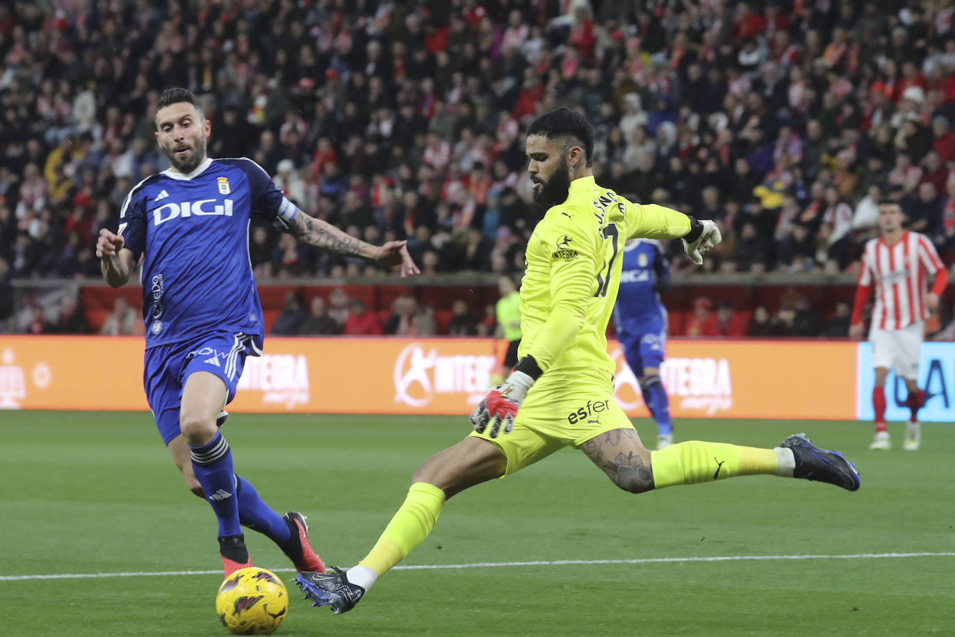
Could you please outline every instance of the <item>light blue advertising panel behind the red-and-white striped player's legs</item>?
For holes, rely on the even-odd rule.
[[[872,420],[872,390],[876,374],[872,369],[872,345],[859,343],[859,381],[857,418]],[[919,412],[923,422],[955,422],[955,343],[923,343],[919,359],[919,387],[925,393],[925,405]],[[908,420],[905,404],[908,390],[895,372],[885,379],[885,419]]]

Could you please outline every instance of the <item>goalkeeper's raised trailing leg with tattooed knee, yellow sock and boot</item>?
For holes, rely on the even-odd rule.
[[[859,472],[841,454],[791,435],[774,449],[690,440],[650,452],[632,429],[596,435],[580,446],[614,484],[631,493],[738,476],[770,475],[859,489]]]

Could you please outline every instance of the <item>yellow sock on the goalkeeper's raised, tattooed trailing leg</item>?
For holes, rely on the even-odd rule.
[[[775,476],[779,472],[779,455],[775,449],[690,440],[651,452],[650,471],[656,489],[736,476]]]

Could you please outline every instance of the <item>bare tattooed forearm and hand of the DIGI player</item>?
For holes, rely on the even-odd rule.
[[[286,225],[286,232],[304,244],[314,245],[346,257],[358,257],[385,267],[400,265],[403,277],[420,274],[420,270],[408,254],[407,242],[390,241],[384,245],[368,244],[331,223],[309,217],[302,210],[299,210]]]

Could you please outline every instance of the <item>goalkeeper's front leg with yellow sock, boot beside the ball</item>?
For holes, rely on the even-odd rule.
[[[364,560],[348,571],[302,572],[295,583],[312,605],[329,605],[335,614],[358,604],[371,584],[425,541],[446,499],[468,487],[499,478],[507,459],[494,444],[467,437],[431,457],[414,472],[404,503]]]

